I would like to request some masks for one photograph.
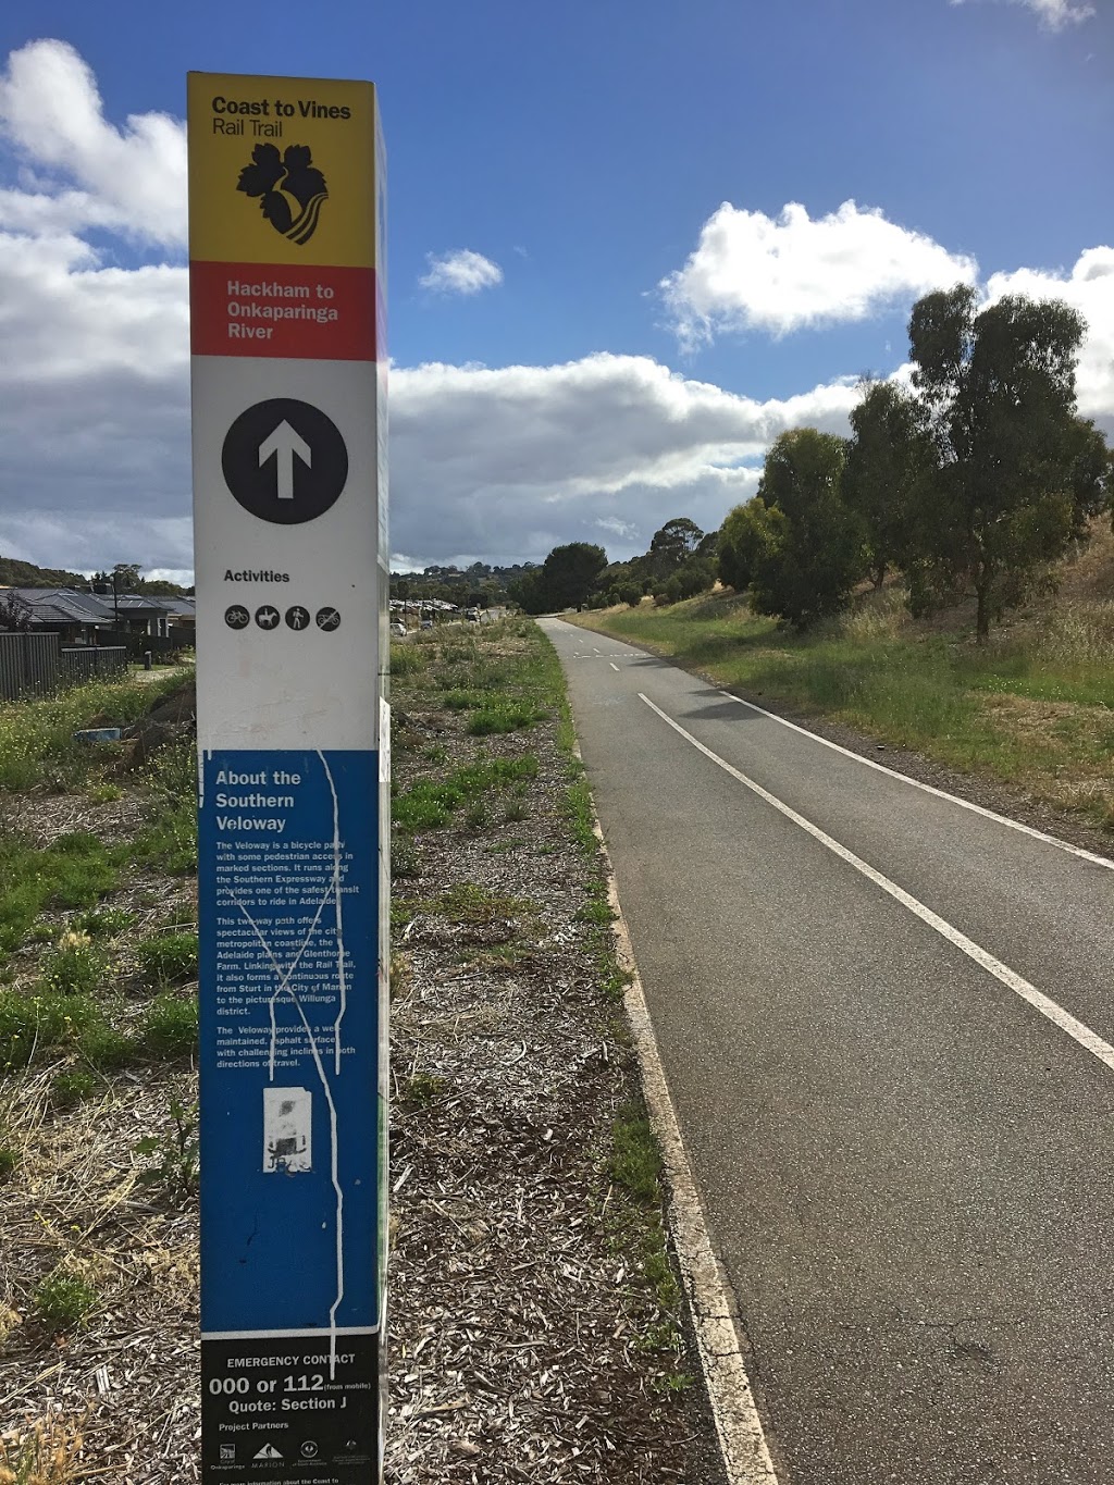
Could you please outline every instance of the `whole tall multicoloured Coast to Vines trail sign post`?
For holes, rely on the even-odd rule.
[[[202,1481],[382,1479],[389,708],[371,83],[189,77]]]

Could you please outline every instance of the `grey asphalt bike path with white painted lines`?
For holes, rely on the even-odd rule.
[[[1114,1479],[1114,870],[542,624],[778,1479]]]

